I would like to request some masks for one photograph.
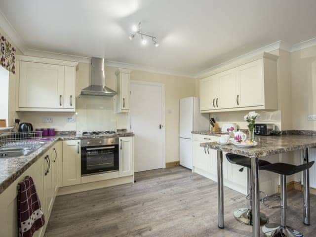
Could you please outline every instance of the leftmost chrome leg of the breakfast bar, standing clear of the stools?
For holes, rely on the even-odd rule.
[[[217,151],[218,228],[224,229],[223,152]]]

